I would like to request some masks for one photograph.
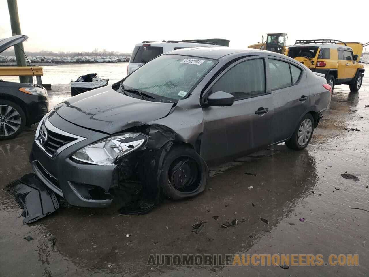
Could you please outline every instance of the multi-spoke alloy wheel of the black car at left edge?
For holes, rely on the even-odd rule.
[[[18,136],[25,126],[25,114],[17,104],[0,99],[0,140]]]

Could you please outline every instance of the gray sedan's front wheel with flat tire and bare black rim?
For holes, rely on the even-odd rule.
[[[170,199],[192,197],[205,189],[207,165],[190,147],[174,146],[166,156],[162,169],[160,185]]]

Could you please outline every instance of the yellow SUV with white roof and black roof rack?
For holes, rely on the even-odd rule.
[[[357,92],[361,88],[364,66],[356,60],[361,55],[362,44],[357,46],[354,54],[351,47],[337,40],[297,40],[289,46],[284,55],[296,59],[314,72],[323,73],[332,91],[335,85],[346,84],[350,90]],[[361,47],[360,47],[361,46]]]

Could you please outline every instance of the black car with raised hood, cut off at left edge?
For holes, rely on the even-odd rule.
[[[25,35],[15,35],[1,39],[0,52],[27,38]],[[14,138],[24,126],[39,122],[48,112],[48,105],[44,87],[0,80],[0,140]]]

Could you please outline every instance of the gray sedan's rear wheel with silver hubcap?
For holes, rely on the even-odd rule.
[[[314,133],[314,119],[311,113],[305,114],[292,137],[286,141],[286,146],[293,150],[302,150],[310,142]]]

